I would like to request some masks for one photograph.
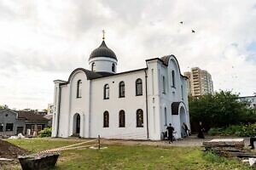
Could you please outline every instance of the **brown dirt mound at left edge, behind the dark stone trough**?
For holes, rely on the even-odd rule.
[[[21,149],[15,144],[0,139],[0,157],[15,159],[17,156],[28,154],[27,150]]]

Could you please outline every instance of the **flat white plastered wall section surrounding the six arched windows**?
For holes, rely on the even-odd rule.
[[[136,80],[143,81],[143,95],[136,96]],[[125,98],[119,98],[119,82],[125,82]],[[103,87],[109,85],[109,99],[103,99]],[[147,139],[145,72],[132,71],[91,81],[91,138]],[[143,110],[143,127],[137,127],[136,112]],[[125,111],[125,127],[119,127],[119,111]],[[103,127],[103,112],[109,113],[109,127]]]

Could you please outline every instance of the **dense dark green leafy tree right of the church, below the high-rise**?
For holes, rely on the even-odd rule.
[[[247,121],[248,109],[230,91],[189,97],[189,114],[192,124],[203,122],[207,127],[226,127]]]

